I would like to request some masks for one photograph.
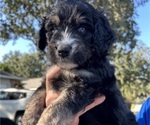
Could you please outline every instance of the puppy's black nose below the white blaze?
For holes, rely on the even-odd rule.
[[[58,55],[60,57],[67,57],[70,53],[70,50],[71,50],[71,46],[69,45],[61,45],[61,46],[58,46],[57,48],[58,50]]]

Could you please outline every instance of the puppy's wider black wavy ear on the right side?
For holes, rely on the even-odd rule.
[[[100,56],[106,55],[115,41],[114,31],[110,28],[107,18],[101,13],[95,13],[94,50]]]

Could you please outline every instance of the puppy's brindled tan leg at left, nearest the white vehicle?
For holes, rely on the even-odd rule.
[[[29,100],[22,125],[36,125],[45,108],[45,88],[38,88]]]

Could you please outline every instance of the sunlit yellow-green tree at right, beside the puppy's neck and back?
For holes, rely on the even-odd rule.
[[[127,100],[144,101],[150,96],[150,48],[138,44],[114,63],[119,88]]]

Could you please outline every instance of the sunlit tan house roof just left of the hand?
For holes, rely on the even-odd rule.
[[[42,78],[30,78],[22,81],[25,89],[36,89],[41,85],[41,82]]]

